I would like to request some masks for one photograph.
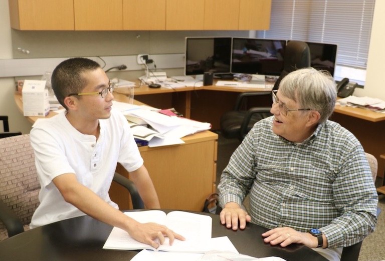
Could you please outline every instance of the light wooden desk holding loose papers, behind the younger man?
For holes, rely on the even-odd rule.
[[[113,93],[114,99],[127,102],[128,97]],[[15,102],[23,113],[21,96],[16,92]],[[141,102],[134,101],[136,104]],[[50,111],[48,117],[56,112]],[[35,122],[40,117],[27,117]],[[216,191],[218,134],[202,131],[182,138],[184,144],[139,147],[144,165],[148,169],[160,205],[165,208],[201,211],[205,198]],[[117,171],[124,176],[129,173],[120,165]],[[127,190],[113,182],[110,196],[120,209],[130,209]]]

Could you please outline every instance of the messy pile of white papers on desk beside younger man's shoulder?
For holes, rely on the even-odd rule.
[[[184,143],[181,137],[211,128],[208,122],[179,117],[170,110],[119,101],[113,101],[113,107],[130,121],[134,137],[147,140],[149,147]]]

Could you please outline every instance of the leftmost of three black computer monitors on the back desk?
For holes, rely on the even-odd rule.
[[[186,37],[185,75],[230,73],[231,37]]]

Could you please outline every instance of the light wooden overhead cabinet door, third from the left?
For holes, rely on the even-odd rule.
[[[123,30],[165,30],[166,0],[123,0]]]

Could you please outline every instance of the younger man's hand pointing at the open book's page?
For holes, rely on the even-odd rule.
[[[133,226],[132,231],[128,233],[136,240],[151,245],[152,247],[158,248],[159,244],[163,244],[165,236],[169,238],[169,243],[172,245],[174,239],[185,240],[183,236],[175,233],[165,225],[157,223],[137,223]],[[159,239],[159,243],[155,241]]]

